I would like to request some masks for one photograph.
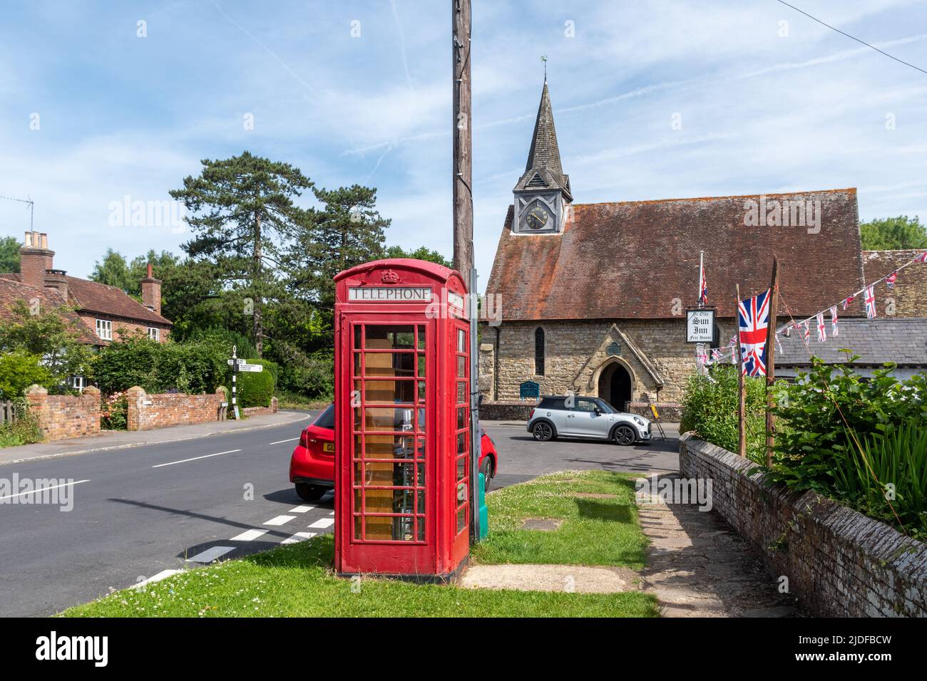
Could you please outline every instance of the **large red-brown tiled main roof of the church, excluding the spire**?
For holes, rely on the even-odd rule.
[[[796,317],[862,287],[856,189],[763,198],[767,207],[819,201],[819,231],[746,226],[759,195],[574,205],[554,234],[512,233],[510,207],[487,294],[502,296],[503,320],[670,318],[679,302],[696,302],[701,250],[708,303],[721,317],[734,316],[736,284],[743,296],[768,287],[774,254],[781,301]],[[859,306],[844,315],[862,314]]]

